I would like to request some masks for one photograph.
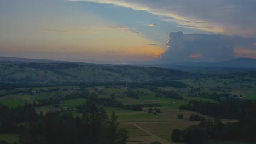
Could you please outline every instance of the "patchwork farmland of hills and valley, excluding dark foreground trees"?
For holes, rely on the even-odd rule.
[[[20,67],[15,64],[1,64],[4,65],[1,67],[4,69],[1,75],[7,77],[4,81],[7,79],[25,81],[24,78],[27,75],[30,77],[27,79],[28,83],[34,81],[33,79],[36,77],[39,80],[37,81],[39,83],[30,83],[24,87],[12,82],[7,85],[10,87],[8,89],[7,86],[2,85],[0,103],[3,105],[15,109],[19,105],[30,103],[35,106],[38,114],[43,113],[45,115],[51,111],[61,111],[62,113],[72,113],[74,116],[82,116],[79,107],[89,101],[88,95],[93,95],[92,97],[97,97],[101,101],[101,103],[97,103],[97,106],[103,107],[109,118],[112,112],[115,112],[120,123],[119,128],[126,127],[128,131],[128,143],[130,144],[149,144],[154,141],[174,143],[171,139],[171,133],[174,129],[185,130],[191,125],[200,124],[200,121],[190,121],[189,118],[192,114],[199,114],[206,119],[215,119],[194,111],[180,110],[181,105],[187,105],[191,100],[209,101],[217,104],[220,101],[219,97],[222,97],[219,96],[220,94],[235,95],[235,97],[242,99],[256,99],[256,78],[253,72],[204,75],[202,77],[197,77],[199,74],[186,72],[180,74],[179,77],[168,77],[167,75],[176,74],[177,71],[148,67],[100,67],[98,65],[64,65],[65,69],[63,69],[63,65],[51,65],[62,69],[60,75],[55,69],[51,69],[49,64],[43,66],[48,71],[39,69],[38,65],[23,64]],[[132,77],[135,73],[138,73],[137,76],[143,77],[143,79]],[[166,76],[166,80],[158,76],[161,74]],[[189,76],[185,76],[185,74]],[[190,76],[196,77],[196,79],[191,79]],[[69,82],[67,81],[65,85],[62,83],[63,81],[60,82],[61,84],[49,84],[48,82],[46,83],[49,85],[42,84],[40,79],[46,80],[45,77],[48,77],[48,82],[65,79],[65,81],[71,81],[72,85],[68,85]],[[150,77],[154,77],[154,79]],[[83,82],[100,79],[117,81],[101,81],[85,85],[80,83],[81,81],[78,79],[83,80]],[[138,82],[136,83],[135,80],[139,82],[136,81]],[[102,101],[114,101],[115,103],[102,103]],[[142,109],[133,110],[129,107],[133,105],[141,106]],[[153,109],[152,113],[149,113],[149,108]],[[156,109],[159,109],[160,112],[156,113]],[[179,114],[183,115],[182,119],[177,117]],[[237,119],[222,119],[222,122],[232,123],[237,122]],[[18,141],[18,134],[0,134],[0,140],[9,143]],[[227,141],[219,140],[210,140],[209,142],[227,143]],[[231,141],[228,143],[240,144]]]

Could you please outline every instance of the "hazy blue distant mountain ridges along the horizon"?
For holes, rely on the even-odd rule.
[[[2,62],[16,62],[16,63],[71,63],[78,65],[110,65],[110,64],[93,64],[84,62],[68,62],[68,61],[57,61],[50,59],[27,59],[27,58],[17,58],[17,57],[0,57]],[[129,64],[133,65],[133,64]],[[134,64],[137,65],[137,64]],[[144,65],[144,64],[139,64]],[[223,62],[179,62],[171,64],[153,64],[152,66],[159,67],[165,66],[184,66],[184,67],[227,67],[227,68],[256,68],[256,59],[252,58],[239,58],[232,59]]]

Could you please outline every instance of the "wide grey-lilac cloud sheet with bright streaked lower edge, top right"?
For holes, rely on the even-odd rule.
[[[256,1],[69,0],[113,4],[158,15],[178,27],[256,37]]]

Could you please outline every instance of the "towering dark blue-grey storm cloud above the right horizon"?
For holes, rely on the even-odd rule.
[[[237,56],[243,57],[237,55],[237,49],[247,49],[247,53],[248,50],[256,52],[255,41],[256,38],[231,35],[171,32],[166,43],[168,51],[162,55],[161,60],[191,61],[196,58],[199,61],[225,61]]]

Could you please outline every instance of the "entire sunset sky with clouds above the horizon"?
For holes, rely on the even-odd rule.
[[[0,0],[0,56],[90,63],[256,58],[255,0]]]

